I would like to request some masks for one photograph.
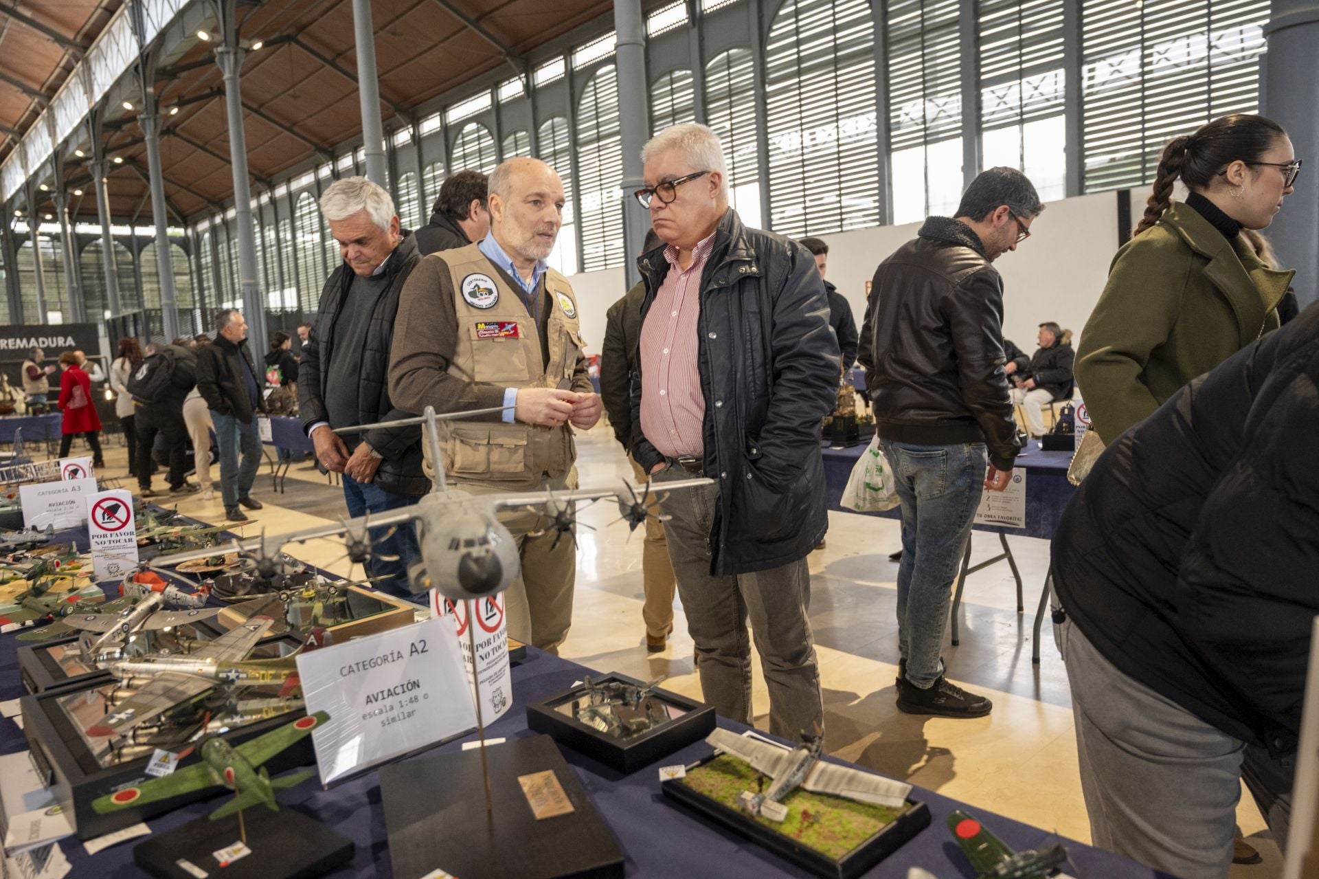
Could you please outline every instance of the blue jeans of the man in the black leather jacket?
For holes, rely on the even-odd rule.
[[[902,502],[898,651],[906,660],[906,678],[927,689],[943,674],[943,630],[984,492],[985,446],[889,440],[880,445]]]

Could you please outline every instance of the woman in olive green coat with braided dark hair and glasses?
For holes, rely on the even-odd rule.
[[[1295,272],[1265,265],[1241,230],[1269,226],[1299,172],[1287,133],[1264,116],[1223,116],[1163,148],[1145,218],[1117,251],[1076,352],[1105,443],[1277,329]],[[1178,177],[1190,195],[1174,203]]]

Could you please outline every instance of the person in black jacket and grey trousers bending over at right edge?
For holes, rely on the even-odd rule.
[[[1319,306],[1108,447],[1053,541],[1095,845],[1227,876],[1240,779],[1286,847],[1319,614]]]

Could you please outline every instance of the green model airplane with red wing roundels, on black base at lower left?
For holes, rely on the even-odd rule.
[[[274,800],[276,792],[302,784],[315,775],[315,769],[303,769],[272,780],[261,764],[328,719],[328,714],[317,711],[237,747],[219,736],[206,739],[200,744],[202,760],[199,763],[92,800],[91,806],[104,814],[146,802],[169,800],[204,788],[224,787],[233,791],[235,796],[211,813],[211,821],[255,805],[265,805],[266,809],[278,812],[280,804]]]

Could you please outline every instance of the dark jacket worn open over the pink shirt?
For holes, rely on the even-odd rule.
[[[641,323],[669,263],[663,248],[637,265],[646,285]],[[801,244],[719,220],[700,276],[698,344],[704,471],[718,479],[711,527],[715,575],[769,570],[805,558],[828,525],[820,422],[836,404],[839,352],[815,260]],[[632,457],[662,461],[641,433],[641,367],[632,383]]]

